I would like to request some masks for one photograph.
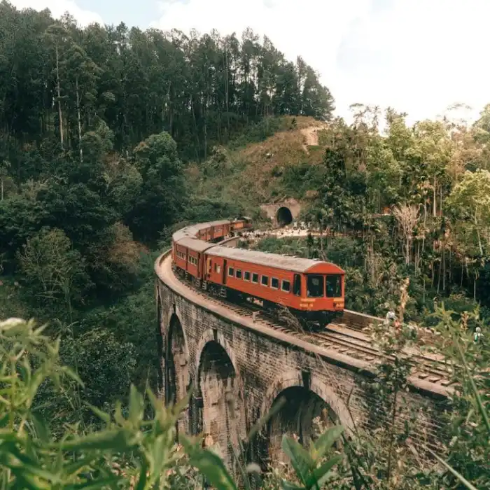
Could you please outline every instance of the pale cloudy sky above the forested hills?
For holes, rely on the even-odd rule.
[[[486,57],[490,0],[10,0],[18,8],[68,10],[80,23],[141,29],[246,27],[267,35],[288,59],[316,69],[332,92],[338,116],[350,104],[393,107],[407,122],[441,116],[477,118],[490,103]]]

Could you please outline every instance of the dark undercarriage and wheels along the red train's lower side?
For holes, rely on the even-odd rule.
[[[172,265],[172,268],[182,279],[193,284],[195,288],[202,289],[214,297],[221,297],[235,304],[251,304],[254,307],[259,307],[265,313],[281,321],[281,323],[286,323],[292,328],[301,328],[307,331],[322,330],[329,323],[335,321],[336,318],[342,316],[342,311],[300,311],[290,307],[283,307],[281,304],[246,295],[221,284],[196,279],[175,265]]]

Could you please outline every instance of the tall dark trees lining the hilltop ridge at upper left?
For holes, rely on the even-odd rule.
[[[205,160],[216,144],[273,134],[278,123],[269,116],[329,120],[334,109],[310,66],[301,58],[288,62],[251,29],[238,37],[141,31],[123,23],[80,29],[69,17],[55,21],[6,2],[0,17],[1,70],[10,73],[0,83],[0,127],[14,139],[53,136],[80,164],[99,148],[87,144],[97,140],[85,138],[87,132],[105,141],[113,134],[114,148],[125,151],[166,130],[181,157]],[[10,157],[7,148],[0,149],[0,161]],[[17,168],[22,156],[12,153],[7,159]]]

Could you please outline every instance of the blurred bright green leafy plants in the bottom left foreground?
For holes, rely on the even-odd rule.
[[[36,391],[47,379],[58,389],[64,379],[81,381],[59,365],[58,344],[34,323],[10,319],[0,323],[0,335],[3,488],[183,486],[188,474],[179,472],[182,455],[174,444],[174,427],[182,407],[167,410],[148,392],[154,416],[146,419],[144,398],[132,387],[127,416],[120,404],[113,414],[94,409],[104,421],[104,430],[82,433],[68,426],[62,437],[54,439],[49,424],[34,410]],[[170,475],[172,470],[177,472]]]

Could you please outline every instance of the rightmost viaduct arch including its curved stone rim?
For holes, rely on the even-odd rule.
[[[314,433],[313,420],[316,417],[320,418],[323,426],[336,423],[342,423],[346,429],[353,426],[344,402],[318,377],[311,377],[305,386],[300,372],[281,374],[267,390],[260,416],[265,416],[281,398],[285,400],[284,405],[262,430],[262,440],[255,442],[262,463],[287,461],[281,451],[282,435],[295,434],[300,442],[307,443]]]

